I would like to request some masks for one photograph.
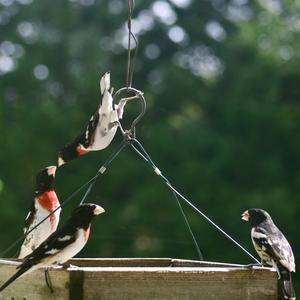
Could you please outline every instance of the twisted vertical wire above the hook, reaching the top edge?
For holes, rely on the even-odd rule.
[[[126,87],[130,88],[132,86],[132,78],[134,73],[135,61],[138,51],[138,41],[134,33],[132,32],[132,14],[134,10],[135,2],[134,0],[128,0],[128,19],[127,19],[127,28],[128,28],[128,49],[127,49],[127,72],[126,72]],[[135,42],[134,56],[131,57],[131,39]]]

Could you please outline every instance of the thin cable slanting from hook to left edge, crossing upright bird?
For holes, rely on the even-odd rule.
[[[37,227],[39,227],[43,222],[45,222],[50,216],[52,216],[57,210],[64,207],[70,200],[72,200],[76,195],[78,195],[85,187],[88,186],[87,191],[85,192],[84,196],[82,197],[80,204],[82,204],[88,194],[91,192],[92,187],[94,186],[97,178],[99,175],[103,174],[107,167],[112,163],[112,161],[119,155],[119,153],[127,146],[125,141],[121,142],[121,145],[117,148],[116,151],[112,153],[111,156],[105,161],[105,163],[99,168],[96,175],[92,177],[89,181],[84,183],[81,187],[79,187],[75,192],[73,192],[65,201],[63,201],[60,206],[58,206],[55,210],[53,210],[49,215],[47,215],[44,219],[42,219],[39,223],[37,223],[34,227],[32,227],[30,230],[28,230],[25,234],[20,236],[17,240],[15,240],[9,247],[7,247],[4,251],[0,253],[0,257],[3,257],[6,253],[8,253],[11,249],[13,249],[19,242],[23,241],[25,237],[30,234],[33,230],[35,230]]]

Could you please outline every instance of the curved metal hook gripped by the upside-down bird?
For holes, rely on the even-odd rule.
[[[116,97],[118,97],[121,93],[123,93],[124,91],[128,92],[132,92],[134,93],[134,96],[129,97],[129,98],[124,98],[125,100],[128,99],[129,100],[133,100],[133,99],[139,99],[140,103],[141,103],[141,111],[139,113],[139,115],[132,121],[130,129],[129,130],[123,130],[123,128],[121,127],[120,124],[120,128],[121,131],[123,133],[123,135],[128,139],[132,139],[135,137],[135,126],[140,122],[140,120],[142,119],[142,117],[144,116],[145,112],[146,112],[146,99],[144,97],[144,93],[133,88],[133,87],[123,87],[121,89],[119,89],[118,91],[116,91],[116,93],[114,94],[114,99]]]

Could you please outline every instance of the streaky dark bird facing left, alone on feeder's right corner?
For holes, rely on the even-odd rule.
[[[251,208],[242,214],[242,219],[252,227],[251,239],[262,264],[273,266],[282,285],[284,299],[296,299],[291,273],[295,272],[292,248],[273,223],[270,215],[258,208]]]

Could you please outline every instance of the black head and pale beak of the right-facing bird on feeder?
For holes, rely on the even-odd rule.
[[[85,203],[76,207],[71,215],[71,222],[78,228],[86,229],[89,227],[92,219],[104,213],[103,207],[93,203]]]

